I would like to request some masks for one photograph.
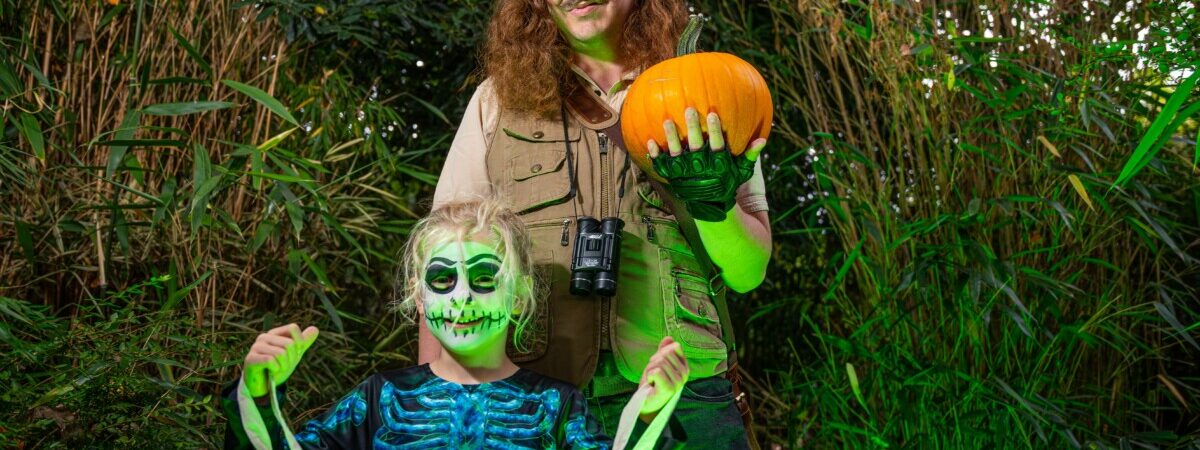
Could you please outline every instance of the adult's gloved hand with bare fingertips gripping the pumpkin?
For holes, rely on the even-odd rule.
[[[667,180],[667,188],[684,203],[694,218],[724,221],[737,203],[738,187],[754,175],[755,161],[767,145],[767,139],[756,139],[742,156],[733,156],[725,151],[725,136],[720,132],[721,119],[716,113],[708,114],[707,143],[700,127],[700,113],[688,108],[684,118],[690,151],[683,151],[674,121],[668,119],[662,122],[662,128],[667,136],[670,154],[662,155],[658,143],[649,140],[646,146],[650,163],[654,172]]]

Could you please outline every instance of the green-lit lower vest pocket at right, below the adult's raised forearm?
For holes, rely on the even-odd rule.
[[[659,248],[667,334],[683,344],[689,359],[725,359],[721,320],[696,257]]]

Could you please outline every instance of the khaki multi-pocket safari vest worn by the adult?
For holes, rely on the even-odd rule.
[[[671,203],[660,197],[665,191],[626,163],[616,112],[580,94],[586,91],[569,101],[565,132],[557,114],[546,119],[502,110],[488,143],[487,175],[529,229],[544,292],[528,352],[510,347],[509,354],[524,367],[583,386],[599,352],[611,349],[620,374],[636,383],[659,341],[670,335],[684,348],[690,378],[722,373],[728,349],[716,301],[724,301],[725,289],[714,288],[719,277],[702,263],[707,257],[696,253],[702,246],[685,239]],[[570,144],[575,167],[568,166],[564,144]],[[576,212],[625,222],[613,298],[569,290]]]

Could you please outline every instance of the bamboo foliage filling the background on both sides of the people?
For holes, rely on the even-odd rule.
[[[491,2],[114,4],[0,0],[0,446],[218,446],[272,324],[296,420],[410,364]],[[691,6],[776,103],[764,445],[1200,448],[1194,2]]]

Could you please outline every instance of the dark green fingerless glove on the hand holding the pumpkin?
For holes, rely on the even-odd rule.
[[[754,161],[728,151],[684,151],[653,158],[654,172],[667,180],[667,190],[683,200],[688,212],[700,221],[720,222],[737,203],[738,186],[754,175]]]

